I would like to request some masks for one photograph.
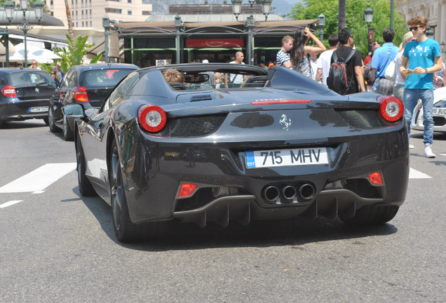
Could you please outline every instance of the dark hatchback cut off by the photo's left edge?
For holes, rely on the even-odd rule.
[[[8,67],[0,69],[0,127],[5,121],[43,119],[48,123],[48,100],[56,84],[39,69]]]

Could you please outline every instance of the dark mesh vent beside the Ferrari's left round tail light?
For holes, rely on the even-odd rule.
[[[227,114],[170,118],[157,137],[203,137],[215,133]]]

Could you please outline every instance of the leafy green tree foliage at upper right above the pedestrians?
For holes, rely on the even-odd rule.
[[[388,0],[346,0],[346,27],[351,30],[356,49],[367,55],[367,23],[364,20],[364,11],[370,5],[373,9],[373,22],[370,28],[374,28],[374,41],[384,43],[382,39],[383,29],[390,27],[390,3]],[[325,15],[324,37],[337,34],[338,28],[338,0],[304,0],[291,8],[288,18],[295,20],[317,19],[320,13]],[[407,25],[398,10],[393,11],[393,29],[395,39],[393,43],[399,46],[407,30]],[[316,31],[315,34],[318,32]],[[325,41],[327,45],[327,41]]]

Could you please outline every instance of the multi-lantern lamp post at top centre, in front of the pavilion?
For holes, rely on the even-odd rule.
[[[243,0],[232,0],[232,11],[236,15],[236,20],[238,20],[238,15],[241,13],[241,6]],[[252,58],[252,29],[257,25],[257,21],[252,13],[252,6],[257,4],[262,4],[262,12],[265,15],[265,21],[268,19],[269,12],[271,11],[272,0],[248,0],[250,4],[250,15],[246,18],[245,27],[248,29],[248,42],[246,43],[246,52],[248,58],[248,64],[254,64],[254,58]]]

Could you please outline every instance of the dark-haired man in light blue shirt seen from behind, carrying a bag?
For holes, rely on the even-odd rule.
[[[377,48],[373,53],[372,70],[376,73],[376,80],[373,87],[375,92],[381,95],[391,95],[393,93],[393,81],[386,79],[386,68],[390,62],[395,59],[398,53],[398,47],[393,45],[393,38],[395,37],[395,29],[386,28],[382,31],[384,44]]]

